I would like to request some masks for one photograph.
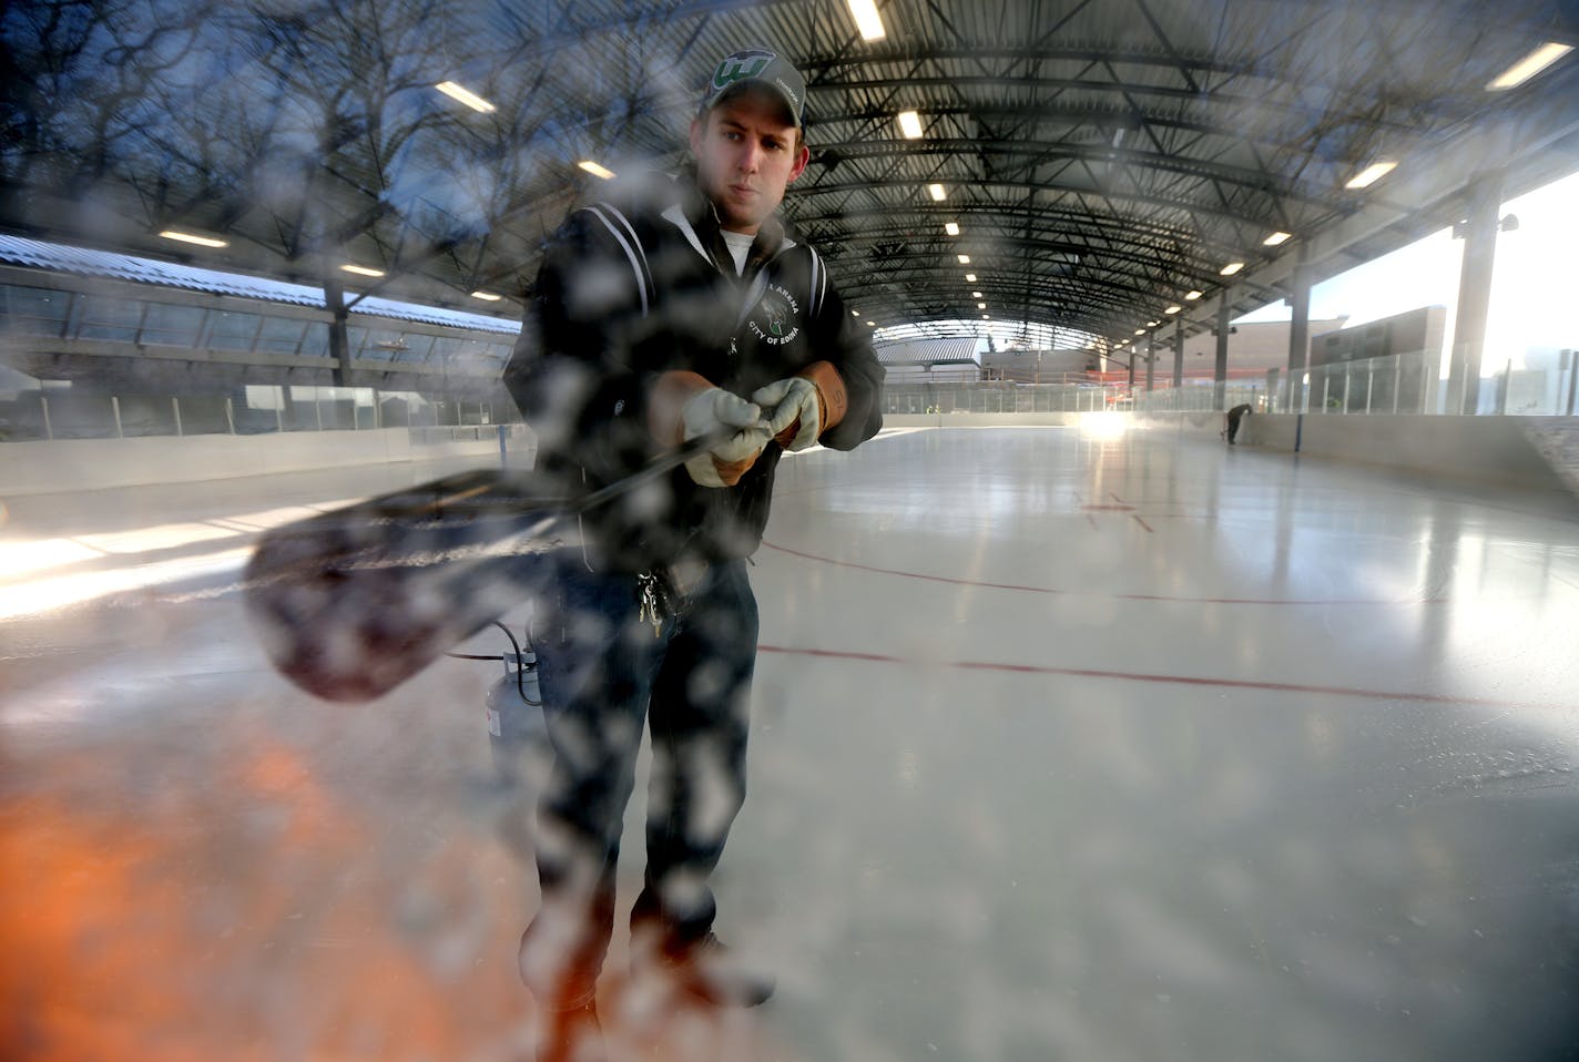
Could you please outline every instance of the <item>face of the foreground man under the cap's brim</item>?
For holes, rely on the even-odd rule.
[[[755,234],[810,158],[783,101],[745,90],[692,122],[701,191],[729,232]]]

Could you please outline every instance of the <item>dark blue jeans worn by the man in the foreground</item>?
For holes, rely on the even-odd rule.
[[[614,928],[614,869],[643,720],[652,737],[647,868],[632,925],[668,942],[704,936],[707,877],[745,802],[756,598],[744,560],[711,565],[657,623],[641,579],[556,554],[532,622],[554,767],[538,802],[543,907],[523,937],[527,985],[591,997]]]

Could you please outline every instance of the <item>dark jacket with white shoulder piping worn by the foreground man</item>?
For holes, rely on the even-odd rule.
[[[688,369],[750,398],[813,361],[831,361],[850,396],[821,443],[851,450],[875,436],[883,366],[821,256],[774,216],[737,276],[693,180],[651,175],[561,226],[504,380],[537,434],[537,467],[564,477],[570,491],[592,491],[663,451],[647,428],[658,374]],[[589,559],[643,571],[755,552],[778,456],[767,443],[731,488],[698,486],[677,469],[666,489],[633,491],[587,513]]]

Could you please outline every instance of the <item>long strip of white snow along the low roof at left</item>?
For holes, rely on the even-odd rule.
[[[313,306],[316,309],[325,308],[324,290],[306,284],[287,284],[286,281],[270,281],[261,276],[246,276],[242,273],[201,270],[191,265],[177,265],[175,262],[159,262],[133,254],[96,251],[92,248],[68,246],[65,243],[46,243],[43,240],[28,240],[25,237],[5,234],[0,234],[0,262],[8,265],[25,265],[38,270],[54,270],[58,273],[74,273],[77,276],[107,276],[118,281],[161,284],[164,287],[180,287],[185,290],[208,292],[213,295],[235,295],[240,298],[256,298],[268,303]],[[513,320],[502,320],[485,314],[469,314],[459,309],[423,306],[420,303],[403,303],[393,298],[376,298],[371,295],[357,300],[351,312],[368,317],[415,320],[425,325],[497,331],[504,335],[513,335],[521,330],[521,323]]]

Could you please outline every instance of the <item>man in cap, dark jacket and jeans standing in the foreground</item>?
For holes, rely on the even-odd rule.
[[[883,382],[823,259],[775,216],[808,159],[804,99],[782,57],[725,58],[692,122],[695,170],[616,188],[565,221],[505,369],[538,467],[568,489],[699,448],[583,521],[532,623],[554,768],[538,806],[543,904],[521,974],[559,1015],[551,1057],[597,1023],[644,716],[654,756],[633,961],[704,1004],[772,991],[726,963],[707,887],[745,798],[756,655],[745,557],[780,453],[870,439]]]

